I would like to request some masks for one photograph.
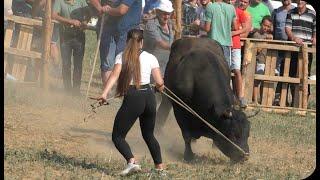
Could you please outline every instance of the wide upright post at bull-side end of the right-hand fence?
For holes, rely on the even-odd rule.
[[[253,47],[254,43],[250,40],[246,40],[244,44],[244,56],[243,56],[243,89],[244,97],[248,102],[252,102],[252,91],[254,83],[254,75],[256,70],[256,54],[257,48]]]

